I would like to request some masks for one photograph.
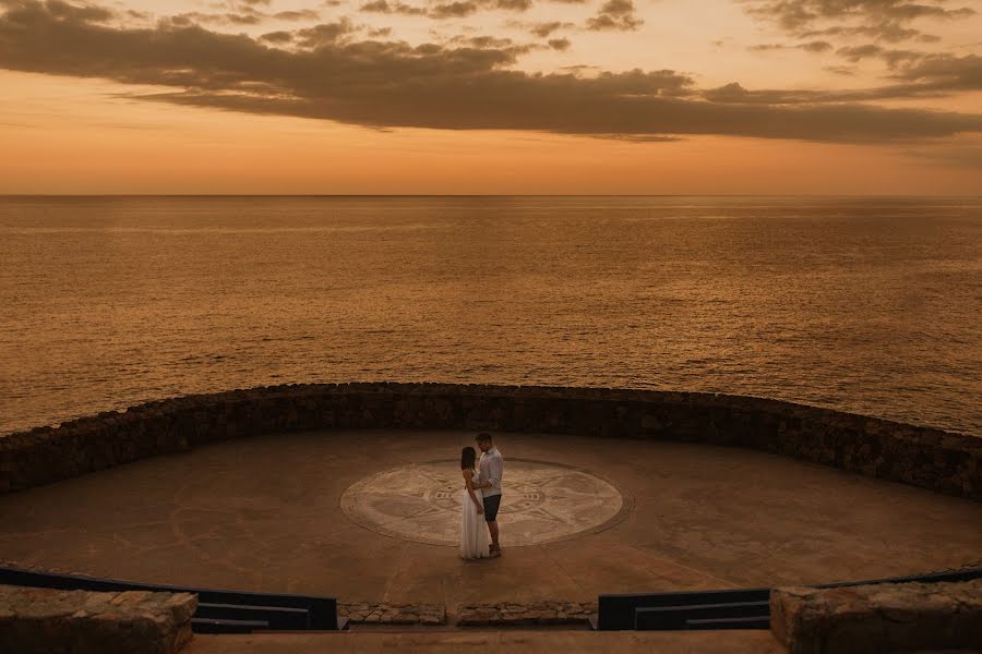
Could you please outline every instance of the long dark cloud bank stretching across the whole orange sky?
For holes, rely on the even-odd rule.
[[[0,68],[164,85],[134,99],[331,120],[371,129],[520,130],[650,141],[690,134],[884,143],[982,132],[982,116],[828,102],[742,87],[702,92],[671,70],[528,73],[520,46],[356,40],[347,21],[294,33],[295,47],[161,22],[104,24],[38,0],[0,0]],[[898,71],[899,85],[974,80],[971,58]],[[741,90],[742,89],[742,90]],[[778,94],[785,94],[785,104]],[[714,96],[715,97],[709,97]],[[811,95],[811,97],[809,97]],[[741,100],[741,96],[742,100]],[[736,98],[739,101],[734,101]]]

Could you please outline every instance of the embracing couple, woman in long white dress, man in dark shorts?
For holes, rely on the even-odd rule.
[[[501,507],[504,461],[494,447],[491,434],[478,434],[477,445],[481,450],[481,460],[477,465],[477,452],[472,447],[465,447],[460,452],[460,472],[464,475],[460,556],[465,559],[501,556],[501,545],[498,544],[498,509]],[[488,536],[484,535],[484,524],[491,534],[490,547]]]

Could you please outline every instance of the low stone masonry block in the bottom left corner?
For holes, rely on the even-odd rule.
[[[197,596],[0,585],[0,651],[173,654],[191,640]]]

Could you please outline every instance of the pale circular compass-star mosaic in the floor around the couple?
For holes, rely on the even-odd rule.
[[[366,477],[345,491],[340,505],[348,518],[374,532],[430,545],[457,545],[465,494],[460,464],[447,459]],[[623,520],[630,508],[630,495],[585,470],[505,459],[498,512],[504,547],[602,531]]]

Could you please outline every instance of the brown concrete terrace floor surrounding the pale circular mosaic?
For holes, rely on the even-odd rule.
[[[343,601],[595,601],[600,593],[818,583],[957,567],[982,555],[969,500],[735,448],[502,434],[633,496],[570,541],[466,562],[349,520],[367,475],[452,459],[465,432],[316,432],[223,443],[0,497],[0,559],[121,579]],[[505,469],[507,492],[507,468]]]

